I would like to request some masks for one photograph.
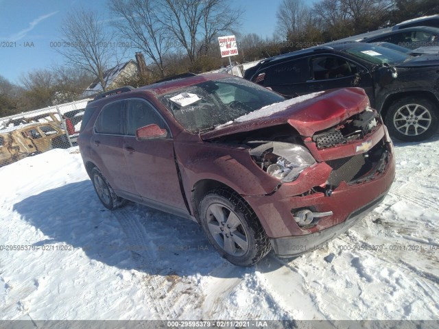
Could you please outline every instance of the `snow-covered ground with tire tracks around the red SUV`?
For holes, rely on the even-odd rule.
[[[395,147],[392,189],[361,223],[247,269],[187,219],[106,210],[76,148],[3,167],[0,319],[437,320],[439,134]]]

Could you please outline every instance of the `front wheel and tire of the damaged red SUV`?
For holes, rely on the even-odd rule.
[[[250,266],[270,252],[270,241],[254,211],[228,188],[206,194],[200,219],[211,245],[230,263]]]

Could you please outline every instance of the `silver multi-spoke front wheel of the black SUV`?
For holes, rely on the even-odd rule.
[[[385,125],[401,141],[423,141],[438,129],[438,108],[427,99],[405,97],[392,103]]]

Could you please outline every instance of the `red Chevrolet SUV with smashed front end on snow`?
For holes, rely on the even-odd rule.
[[[106,208],[128,199],[197,221],[243,266],[333,239],[383,200],[395,174],[361,88],[286,100],[223,74],[99,95],[79,145]]]

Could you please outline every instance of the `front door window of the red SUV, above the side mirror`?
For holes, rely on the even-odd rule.
[[[136,130],[145,125],[155,123],[161,128],[167,125],[160,114],[149,103],[140,99],[129,99],[126,101],[127,113],[127,135],[136,136]],[[166,137],[169,137],[169,132]]]

